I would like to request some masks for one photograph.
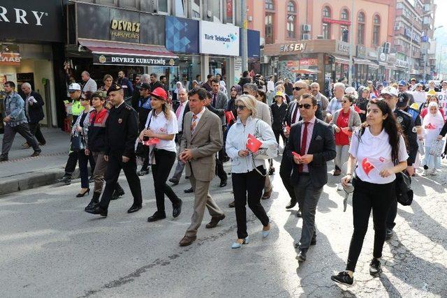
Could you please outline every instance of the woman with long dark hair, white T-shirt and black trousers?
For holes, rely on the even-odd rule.
[[[374,253],[369,274],[381,272],[380,258],[386,236],[386,217],[395,198],[396,173],[406,169],[405,141],[400,126],[388,104],[373,98],[367,107],[367,126],[351,138],[348,169],[342,184],[353,181],[354,232],[349,246],[346,270],[331,277],[332,281],[353,284],[353,272],[368,228],[372,210],[374,221]],[[353,166],[356,177],[352,177]]]

